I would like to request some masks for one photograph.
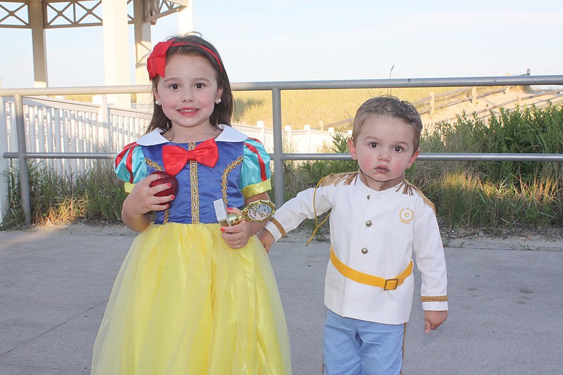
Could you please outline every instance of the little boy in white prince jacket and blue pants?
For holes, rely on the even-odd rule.
[[[354,173],[326,176],[278,208],[260,233],[269,250],[305,218],[331,210],[324,303],[325,375],[399,375],[411,315],[412,255],[422,275],[425,331],[448,315],[446,263],[434,205],[404,179],[418,156],[422,121],[392,96],[357,110],[348,147]],[[318,228],[318,227],[317,227]]]

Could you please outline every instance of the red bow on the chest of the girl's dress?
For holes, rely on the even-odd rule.
[[[180,146],[165,145],[162,147],[162,161],[164,171],[172,176],[177,175],[187,164],[188,160],[195,160],[213,168],[219,159],[217,143],[213,138],[199,143],[194,150],[186,151]]]

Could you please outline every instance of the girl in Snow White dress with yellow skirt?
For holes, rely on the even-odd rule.
[[[92,374],[291,374],[282,303],[255,236],[265,223],[221,227],[213,205],[241,213],[268,199],[270,158],[230,126],[229,80],[207,41],[161,42],[147,70],[152,121],[115,159],[134,185],[122,217],[140,234],[107,303]],[[153,171],[175,176],[175,196],[157,195],[169,184],[152,184]]]

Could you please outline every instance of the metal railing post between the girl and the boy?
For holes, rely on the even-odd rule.
[[[281,207],[284,204],[284,152],[282,143],[282,92],[277,87],[272,87],[272,114],[274,117],[274,187],[275,204]]]

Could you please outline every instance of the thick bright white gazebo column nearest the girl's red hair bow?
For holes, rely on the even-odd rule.
[[[102,25],[104,35],[105,84],[127,86],[129,77],[129,46],[127,31],[127,2],[102,0]],[[131,107],[129,94],[108,96],[111,104]]]

